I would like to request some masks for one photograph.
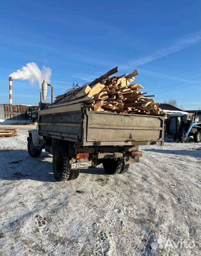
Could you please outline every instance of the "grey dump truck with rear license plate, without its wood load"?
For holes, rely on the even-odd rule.
[[[28,153],[52,154],[57,181],[76,179],[80,169],[99,164],[108,174],[125,173],[142,156],[138,146],[164,144],[163,116],[91,111],[83,102],[44,105],[37,129],[28,131]]]

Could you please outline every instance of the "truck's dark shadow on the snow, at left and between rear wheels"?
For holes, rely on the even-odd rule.
[[[83,174],[107,174],[103,168],[80,170]],[[31,157],[27,150],[0,150],[0,180],[35,180],[56,182],[52,170],[52,155],[42,152],[40,157]]]

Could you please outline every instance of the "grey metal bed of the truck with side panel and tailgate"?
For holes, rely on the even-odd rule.
[[[82,146],[164,143],[164,117],[87,110],[82,103],[40,111],[39,134]]]

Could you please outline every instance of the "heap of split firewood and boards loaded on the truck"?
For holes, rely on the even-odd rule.
[[[125,114],[161,115],[160,104],[156,103],[155,95],[146,95],[140,91],[144,87],[134,83],[138,71],[121,76],[112,76],[118,72],[118,67],[95,79],[93,82],[67,91],[55,99],[58,106],[63,103],[73,104],[84,102],[89,110],[110,111]]]

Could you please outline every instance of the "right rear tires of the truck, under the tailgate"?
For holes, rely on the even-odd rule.
[[[108,174],[120,174],[123,167],[123,160],[118,159],[115,161],[114,159],[104,159],[103,168]]]

